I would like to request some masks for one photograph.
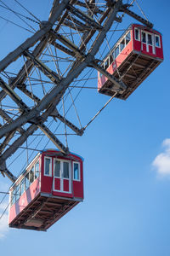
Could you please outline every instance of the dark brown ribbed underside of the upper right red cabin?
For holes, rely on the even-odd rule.
[[[156,69],[161,61],[159,58],[151,58],[149,55],[141,54],[138,51],[131,52],[113,73],[116,79],[122,80],[127,86],[127,89],[122,94],[117,94],[116,97],[126,100],[139,87],[139,84]],[[107,80],[99,89],[99,93],[113,96],[115,94],[114,84]]]

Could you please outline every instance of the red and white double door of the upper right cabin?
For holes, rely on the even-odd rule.
[[[153,33],[142,32],[142,49],[150,54],[156,54]]]

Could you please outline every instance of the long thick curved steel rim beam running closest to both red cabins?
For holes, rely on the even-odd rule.
[[[108,15],[107,19],[105,20],[104,29],[101,32],[99,32],[99,35],[95,39],[94,44],[89,50],[89,53],[86,56],[85,60],[82,62],[79,62],[79,65],[77,65],[76,68],[71,69],[71,71],[67,74],[66,78],[62,79],[62,81],[59,83],[58,86],[55,86],[50,93],[44,96],[42,101],[37,103],[37,106],[35,108],[32,108],[29,113],[23,114],[18,119],[15,119],[11,124],[4,125],[2,128],[0,128],[0,137],[3,137],[4,134],[20,127],[20,125],[26,124],[27,121],[34,119],[35,117],[37,118],[37,116],[40,115],[40,112],[45,108],[47,108],[48,104],[50,102],[53,102],[54,99],[56,99],[56,102],[57,102],[56,104],[58,104],[60,98],[64,95],[65,90],[68,88],[69,84],[71,84],[71,82],[74,79],[76,79],[80,73],[82,73],[82,70],[84,70],[85,67],[89,66],[90,63],[94,61],[94,55],[96,55],[100,45],[103,43],[106,32],[110,30],[111,25],[116,18],[116,13],[120,9],[121,5],[122,5],[122,0],[117,0],[115,4],[115,8],[111,9],[111,13]]]

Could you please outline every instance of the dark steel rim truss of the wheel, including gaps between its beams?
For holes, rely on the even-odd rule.
[[[39,30],[31,38],[0,61],[0,100],[3,104],[8,96],[18,110],[14,115],[4,108],[0,109],[0,171],[13,182],[15,177],[8,171],[6,160],[38,129],[63,154],[69,153],[69,148],[45,125],[49,117],[58,119],[75,134],[82,136],[84,129],[66,119],[65,113],[59,113],[59,104],[64,102],[66,94],[71,94],[69,86],[85,68],[91,67],[105,74],[115,84],[116,93],[122,94],[126,90],[126,84],[121,79],[116,79],[99,66],[102,60],[95,59],[95,55],[113,22],[122,22],[122,16],[118,13],[126,13],[146,26],[153,25],[130,11],[129,5],[123,4],[122,0],[103,2],[105,8],[96,4],[95,0],[54,0],[48,20],[42,21]],[[70,36],[63,34],[64,27]],[[59,66],[59,52],[60,58],[67,61],[65,70]],[[23,63],[20,70],[15,75],[8,73],[8,67],[19,60]],[[52,60],[54,67],[50,65]],[[41,92],[33,90],[35,81],[42,84]],[[30,102],[33,102],[33,107]]]

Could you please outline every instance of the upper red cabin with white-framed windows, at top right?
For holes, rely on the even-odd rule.
[[[161,33],[132,24],[106,55],[102,67],[127,85],[116,97],[126,100],[139,84],[163,61]],[[113,96],[114,84],[98,72],[99,93]]]

